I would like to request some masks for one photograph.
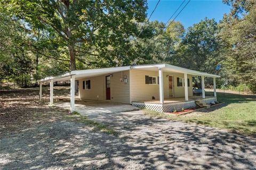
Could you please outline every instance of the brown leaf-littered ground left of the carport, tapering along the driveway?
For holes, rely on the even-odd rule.
[[[54,95],[65,97],[68,92],[69,87],[54,87]],[[43,96],[49,96],[49,88],[43,88]],[[0,134],[60,120],[83,123],[94,131],[116,134],[106,125],[89,120],[78,113],[69,114],[66,109],[49,107],[47,103],[39,103],[38,99],[38,88],[1,91]]]

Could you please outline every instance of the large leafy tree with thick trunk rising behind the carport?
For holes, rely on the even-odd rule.
[[[116,49],[124,48],[137,32],[134,21],[145,19],[147,7],[145,1],[132,0],[21,0],[10,4],[14,15],[29,27],[44,28],[59,36],[69,52],[70,70],[76,70],[76,56],[81,51],[99,60],[118,57]]]

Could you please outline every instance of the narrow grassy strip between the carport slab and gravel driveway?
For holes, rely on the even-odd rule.
[[[71,113],[69,115],[66,115],[65,118],[67,118],[68,120],[76,121],[79,123],[84,123],[88,126],[91,126],[91,127],[93,127],[94,131],[102,131],[107,134],[117,135],[117,132],[115,130],[109,128],[108,126],[106,126],[102,123],[90,120],[86,116],[82,116],[81,114],[79,114],[76,111],[74,111],[73,113]]]

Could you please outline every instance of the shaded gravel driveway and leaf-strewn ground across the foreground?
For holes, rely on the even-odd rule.
[[[107,134],[67,118],[65,109],[39,104],[37,95],[36,88],[1,93],[0,169],[256,167],[252,136],[151,118],[142,111],[91,117],[117,132]]]

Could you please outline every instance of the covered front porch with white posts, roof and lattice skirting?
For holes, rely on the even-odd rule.
[[[164,64],[163,66],[136,66],[135,68],[147,71],[149,76],[155,72],[153,77],[157,76],[159,95],[155,93],[151,95],[151,99],[135,98],[131,102],[133,106],[144,107],[157,112],[173,112],[175,110],[195,108],[197,104],[203,103],[207,105],[217,101],[216,78],[219,75],[188,70],[169,64]],[[201,80],[201,96],[194,96],[193,84],[191,83],[193,77],[199,77]],[[211,96],[205,95],[205,77],[211,78],[213,81],[213,93]],[[151,88],[151,86],[143,86],[143,89],[147,88]],[[144,91],[143,89],[140,88],[140,90],[136,91]]]

